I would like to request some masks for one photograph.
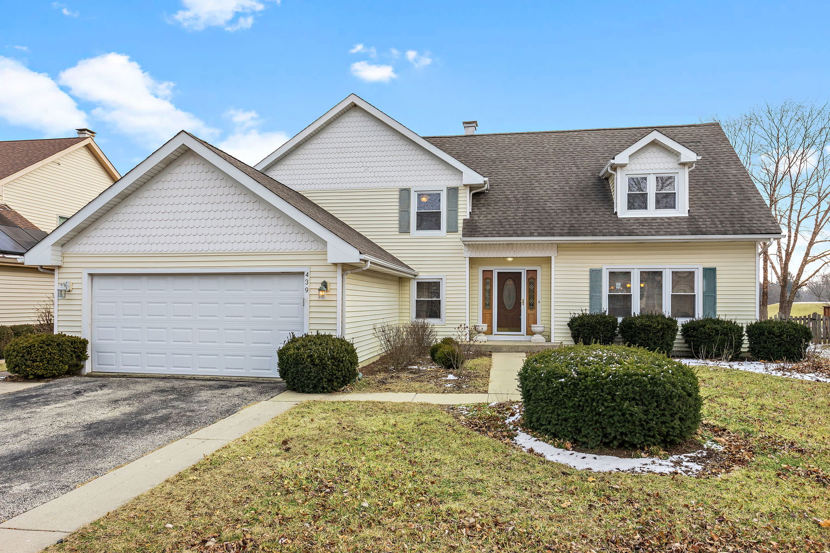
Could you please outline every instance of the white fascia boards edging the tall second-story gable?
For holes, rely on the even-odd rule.
[[[330,109],[329,111],[325,112],[320,118],[316,119],[314,123],[310,124],[305,129],[301,130],[300,133],[295,134],[294,138],[291,138],[288,142],[284,143],[280,148],[276,148],[276,150],[263,159],[260,163],[257,163],[254,168],[259,171],[266,171],[268,167],[271,167],[276,162],[278,162],[286,153],[291,152],[294,148],[296,148],[300,143],[305,142],[306,138],[310,138],[315,133],[320,132],[320,129],[325,127],[326,125],[330,124],[333,119],[336,119],[339,114],[342,114],[346,109],[351,107],[357,106],[360,109],[363,109],[368,114],[374,116],[375,118],[382,121],[384,124],[387,124],[389,127],[397,131],[398,133],[402,134],[404,137],[409,138],[413,143],[416,143],[421,148],[427,150],[427,152],[432,153],[435,157],[441,159],[443,162],[448,163],[452,167],[455,167],[459,171],[461,171],[461,183],[465,185],[484,185],[485,178],[482,177],[478,172],[473,171],[470,167],[467,167],[464,163],[461,163],[456,158],[453,158],[448,153],[444,152],[441,148],[437,148],[434,144],[430,143],[429,141],[422,138],[419,134],[414,133],[412,130],[405,127],[403,124],[398,123],[395,119],[392,119],[387,114],[384,114],[383,111],[374,107],[374,105],[369,104],[363,98],[360,98],[358,95],[351,94],[347,96],[343,101],[339,104],[335,105],[334,108]]]

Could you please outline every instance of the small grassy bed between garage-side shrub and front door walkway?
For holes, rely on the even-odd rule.
[[[363,378],[349,385],[345,391],[486,394],[490,383],[490,356],[470,359],[461,369],[449,371],[428,360],[417,361],[412,367],[398,370],[382,366],[381,361],[373,363],[370,370],[362,369]],[[449,375],[455,378],[447,379]]]

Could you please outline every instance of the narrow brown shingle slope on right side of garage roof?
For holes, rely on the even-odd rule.
[[[320,225],[324,226],[327,230],[330,230],[350,245],[353,245],[360,251],[361,254],[370,255],[375,259],[398,265],[398,267],[402,267],[403,269],[414,271],[414,269],[408,264],[398,260],[397,257],[390,254],[388,251],[383,250],[383,248],[375,244],[372,240],[369,240],[369,238],[360,234],[351,226],[346,225],[329,211],[325,211],[325,209],[317,205],[314,201],[311,201],[309,198],[300,194],[300,192],[296,192],[295,190],[286,187],[286,185],[274,180],[263,172],[257,171],[255,168],[247,165],[247,163],[242,163],[229,153],[222,152],[222,150],[210,143],[205,142],[202,138],[193,136],[193,134],[190,134],[190,136],[196,138],[200,143],[203,143],[207,146],[207,148],[210,148],[214,153],[217,153],[219,157],[247,174],[248,177],[251,177],[256,182],[259,182],[263,187],[266,187],[271,192],[274,192],[277,196],[280,196],[282,200],[287,201],[291,204],[291,206],[295,206],[297,209],[305,213],[305,215],[310,216],[312,219],[320,223]]]

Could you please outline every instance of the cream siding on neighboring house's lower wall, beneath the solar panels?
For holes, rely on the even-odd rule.
[[[51,306],[54,289],[54,274],[0,264],[0,325],[35,323],[37,307]]]

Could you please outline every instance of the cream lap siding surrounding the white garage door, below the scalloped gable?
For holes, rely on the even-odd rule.
[[[337,302],[317,299],[317,287],[321,280],[328,280],[332,298],[337,289],[337,268],[326,260],[325,251],[278,253],[227,253],[227,254],[64,254],[63,266],[58,268],[58,279],[69,280],[73,289],[65,299],[58,300],[58,332],[86,336],[81,327],[83,305],[83,269],[193,269],[194,273],[209,272],[216,268],[254,267],[309,267],[310,332],[337,333]]]

